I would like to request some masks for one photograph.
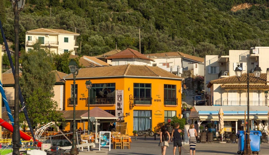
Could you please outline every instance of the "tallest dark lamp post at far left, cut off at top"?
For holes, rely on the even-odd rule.
[[[15,105],[14,105],[14,126],[13,126],[13,152],[20,154],[20,125],[19,125],[19,12],[23,9],[24,0],[10,0],[14,12],[14,33],[15,33]]]

